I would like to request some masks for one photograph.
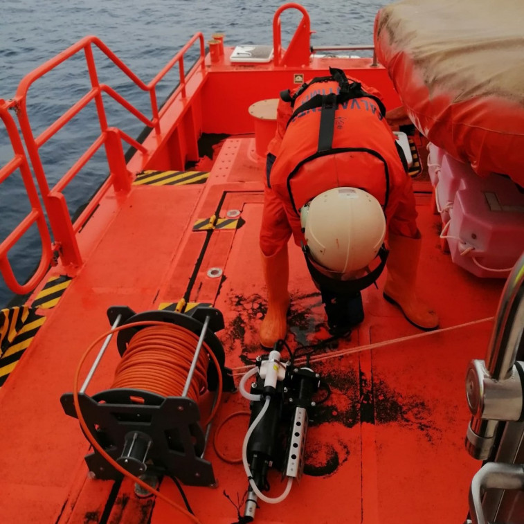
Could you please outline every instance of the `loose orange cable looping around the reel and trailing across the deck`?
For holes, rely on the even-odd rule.
[[[102,457],[105,458],[105,460],[107,460],[107,462],[109,462],[109,464],[111,464],[111,466],[114,467],[114,469],[116,469],[116,471],[119,471],[120,473],[122,473],[123,475],[127,476],[128,478],[130,478],[131,480],[136,482],[138,485],[143,487],[143,489],[147,489],[147,491],[150,491],[150,493],[152,493],[152,494],[156,495],[158,498],[161,498],[162,500],[164,500],[164,502],[166,502],[169,505],[171,505],[172,507],[174,507],[174,509],[177,509],[177,511],[179,511],[181,514],[186,516],[193,523],[200,524],[200,521],[199,521],[199,519],[196,516],[194,516],[194,515],[190,514],[189,512],[187,512],[186,509],[184,509],[179,504],[174,502],[174,500],[172,500],[171,498],[161,494],[160,491],[152,488],[150,485],[146,484],[140,478],[134,476],[132,473],[129,473],[129,471],[127,471],[127,469],[124,469],[123,467],[121,467],[120,464],[118,464],[118,462],[116,462],[116,460],[111,458],[111,456],[109,456],[109,454],[105,451],[105,449],[103,449],[102,446],[100,446],[100,444],[98,444],[96,438],[93,436],[93,434],[91,433],[91,430],[87,426],[86,421],[85,421],[85,419],[84,419],[84,417],[82,415],[82,411],[80,410],[80,402],[78,400],[78,389],[79,389],[78,388],[78,381],[80,379],[80,370],[82,369],[82,364],[85,362],[85,360],[87,359],[87,356],[94,349],[96,344],[98,344],[100,341],[102,341],[103,338],[106,338],[111,333],[118,333],[119,331],[122,331],[123,329],[128,329],[129,327],[145,327],[145,326],[152,326],[152,325],[168,327],[168,329],[172,329],[174,331],[178,331],[179,329],[181,329],[179,326],[175,326],[175,325],[168,324],[168,323],[165,323],[165,322],[159,322],[159,321],[156,321],[156,320],[143,320],[141,322],[134,322],[134,323],[126,324],[126,325],[120,325],[120,326],[116,327],[115,329],[111,329],[109,332],[106,332],[106,333],[100,335],[95,341],[93,341],[93,343],[87,348],[87,350],[84,352],[84,354],[80,358],[80,362],[78,363],[78,367],[76,368],[76,371],[75,371],[75,379],[73,381],[73,404],[75,405],[75,411],[76,411],[76,415],[78,417],[78,422],[80,422],[80,426],[82,427],[82,430],[84,431],[84,434],[86,435],[87,440],[89,440],[89,442],[92,444],[93,448],[96,449],[96,451],[98,451],[98,453],[100,453],[100,455],[102,455]],[[204,347],[206,348],[206,350],[209,349],[207,347],[207,345],[204,345]],[[219,407],[219,404],[220,404],[220,397],[222,396],[222,373],[220,372],[220,365],[219,365],[219,363],[217,361],[217,357],[215,356],[215,354],[213,352],[209,352],[209,356],[211,357],[211,359],[215,363],[215,366],[217,368],[217,374],[218,374],[217,401],[215,402],[215,407],[213,408],[213,411],[210,414],[209,418],[211,419],[211,418],[213,418],[215,416],[215,413],[216,413],[216,411],[217,411],[217,409]]]

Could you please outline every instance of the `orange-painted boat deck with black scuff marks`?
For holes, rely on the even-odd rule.
[[[277,96],[293,74],[313,77],[328,64],[381,89],[388,107],[398,102],[386,72],[369,60],[315,59],[308,69],[286,69],[237,66],[225,58],[211,64],[208,57],[206,74],[197,71],[188,80],[188,98],[168,105],[157,134],[127,164],[135,174],[180,171],[185,161],[197,160],[201,132],[237,134],[224,141],[213,162],[200,159],[192,168],[199,174],[183,175],[204,179],[209,172],[208,178],[170,185],[177,174],[158,174],[152,179],[164,185],[135,184],[129,192],[109,188],[76,235],[82,265],[70,271],[59,263],[35,289],[27,305],[45,321],[0,389],[2,523],[188,521],[162,500],[136,498],[127,479],[88,476],[89,444],[78,421],[64,414],[60,397],[73,388],[80,356],[109,329],[106,312],[113,305],[147,311],[173,308],[182,298],[213,305],[224,314],[225,329],[217,336],[237,379],[262,354],[257,332],[266,299],[258,231],[265,166],[247,108]],[[431,189],[421,182],[416,190],[423,235],[419,293],[438,312],[440,329],[422,333],[408,324],[383,300],[383,276],[379,289],[363,292],[364,322],[336,347],[318,350],[325,358],[312,364],[332,394],[309,426],[306,474],[280,505],[260,503],[255,522],[419,524],[462,522],[467,516],[467,492],[480,464],[464,451],[471,416],[464,374],[471,359],[485,354],[503,282],[480,280],[451,262],[441,249]],[[213,216],[238,222],[195,231],[196,223]],[[287,340],[294,348],[328,335],[320,294],[294,246],[290,266]],[[67,273],[73,278],[53,280]],[[109,387],[119,358],[111,343],[88,393]],[[246,475],[242,464],[219,458],[212,442],[228,415],[246,409],[248,401],[237,392],[225,393],[213,421],[204,456],[219,487],[184,487],[203,524],[237,519],[224,491],[241,499]],[[247,426],[247,417],[225,424],[219,450],[238,458]],[[282,492],[278,475],[271,486],[271,494]],[[170,478],[163,478],[160,489],[183,504]]]

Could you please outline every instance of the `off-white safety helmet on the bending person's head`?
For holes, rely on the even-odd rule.
[[[379,201],[357,188],[334,188],[300,210],[300,224],[313,262],[326,275],[358,278],[377,256],[386,235]],[[333,274],[331,274],[333,276]]]

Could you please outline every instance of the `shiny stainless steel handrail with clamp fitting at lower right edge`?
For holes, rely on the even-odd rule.
[[[468,523],[487,524],[498,515],[504,490],[524,490],[524,467],[512,463],[523,437],[522,423],[514,422],[521,421],[524,413],[523,332],[524,254],[505,284],[486,358],[471,361],[467,372],[467,400],[473,417],[466,448],[473,458],[495,461],[485,464],[473,477]],[[495,454],[493,447],[503,422],[505,431]]]

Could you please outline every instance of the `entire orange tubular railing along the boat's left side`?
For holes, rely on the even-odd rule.
[[[199,41],[200,44],[200,55],[197,62],[192,66],[192,69],[186,75],[184,71],[183,58],[189,48]],[[106,84],[100,84],[98,81],[98,74],[96,71],[96,64],[93,57],[93,46],[96,46],[102,53],[109,58],[114,64],[121,70],[127,77],[136,84],[137,87],[143,91],[150,93],[151,103],[151,118],[145,116],[141,111],[136,109],[131,103],[129,103],[123,96],[120,96],[114,89]],[[33,130],[30,127],[28,113],[27,113],[27,93],[29,87],[43,75],[54,69],[56,66],[62,64],[73,55],[84,52],[87,70],[89,72],[89,78],[91,80],[91,89],[85,94],[78,102],[75,102],[62,116],[57,118],[51,125],[49,125],[39,136],[33,136]],[[156,87],[159,82],[165,77],[165,75],[171,71],[176,65],[179,65],[179,85],[170,96],[168,102],[161,109],[159,109],[157,98],[156,98]],[[17,93],[14,99],[9,102],[3,102],[1,107],[1,118],[6,127],[15,150],[15,159],[13,159],[8,165],[0,170],[0,183],[9,176],[9,174],[20,168],[22,176],[24,177],[24,183],[30,198],[30,202],[33,206],[33,211],[24,219],[17,228],[10,234],[10,236],[0,244],[0,271],[8,284],[8,287],[15,291],[15,293],[26,293],[37,285],[39,280],[45,273],[45,270],[51,260],[52,250],[56,250],[60,255],[60,259],[64,266],[80,266],[82,264],[82,257],[78,248],[78,242],[75,237],[75,233],[78,233],[80,228],[87,221],[89,216],[96,209],[100,200],[105,195],[109,188],[114,187],[116,191],[129,191],[131,184],[131,174],[127,171],[125,162],[125,155],[122,146],[122,140],[127,142],[136,150],[147,155],[148,152],[145,147],[138,143],[136,140],[125,134],[122,130],[116,127],[109,127],[107,123],[107,116],[105,112],[104,102],[102,100],[102,93],[114,98],[120,105],[125,107],[130,113],[132,113],[138,120],[154,129],[154,132],[160,133],[160,120],[165,111],[167,111],[174,100],[177,98],[186,98],[186,84],[188,80],[195,74],[196,71],[201,70],[202,75],[206,74],[205,66],[205,46],[204,46],[204,35],[202,33],[195,34],[192,39],[184,46],[177,55],[175,55],[168,64],[149,82],[145,84],[138,76],[136,76],[131,69],[129,69],[100,39],[94,36],[84,37],[82,40],[74,44],[73,46],[66,49],[56,57],[48,60],[42,66],[26,75],[26,77],[20,82],[17,89]],[[39,156],[39,148],[47,143],[66,123],[68,123],[73,117],[78,115],[89,102],[95,101],[96,110],[98,113],[98,120],[100,122],[100,136],[91,144],[84,154],[80,156],[73,166],[64,174],[64,176],[55,184],[53,188],[49,188],[44,172],[44,167]],[[26,156],[24,154],[24,148],[21,145],[20,137],[17,132],[15,123],[8,114],[8,109],[15,109],[19,127],[22,135],[24,136],[24,142],[26,143],[26,149],[30,157],[31,164],[33,165],[33,172],[42,195],[42,200],[46,208],[48,221],[53,232],[55,244],[51,247],[51,239],[46,227],[42,208],[40,207],[37,192],[33,180],[30,176],[30,170]],[[109,164],[109,177],[102,184],[97,194],[89,201],[86,208],[82,211],[82,214],[75,219],[75,222],[71,221],[69,210],[66,205],[66,199],[62,193],[64,188],[75,178],[75,176],[82,170],[84,165],[93,157],[94,154],[101,148],[105,148],[107,156],[107,162]],[[33,222],[37,222],[39,227],[40,236],[42,238],[43,253],[42,260],[39,264],[37,272],[33,277],[26,282],[26,284],[19,284],[12,273],[12,269],[7,261],[7,252],[12,246],[20,239],[22,235],[27,231]]]

